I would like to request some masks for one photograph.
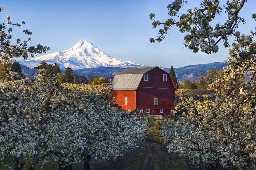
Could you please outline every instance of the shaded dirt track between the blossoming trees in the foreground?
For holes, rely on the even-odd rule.
[[[196,170],[179,155],[168,153],[164,144],[143,142],[143,148],[129,150],[122,157],[108,161],[91,160],[91,170]],[[75,165],[73,170],[82,170],[82,165]]]

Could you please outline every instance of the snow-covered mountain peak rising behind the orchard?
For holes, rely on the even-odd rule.
[[[68,50],[34,57],[32,59],[19,61],[19,63],[32,68],[40,65],[42,60],[45,60],[48,64],[57,63],[61,69],[70,67],[72,70],[94,68],[98,66],[144,67],[144,65],[136,64],[131,61],[123,61],[112,56],[108,56],[100,49],[93,46],[92,43],[87,42],[84,39],[81,39],[75,46]]]

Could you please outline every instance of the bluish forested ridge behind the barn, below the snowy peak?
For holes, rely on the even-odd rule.
[[[171,63],[170,63],[171,65]],[[188,79],[190,81],[194,81],[195,78],[198,77],[198,72],[206,72],[207,70],[213,70],[215,68],[222,69],[223,67],[227,66],[227,63],[208,63],[208,64],[197,64],[197,65],[189,65],[185,67],[179,67],[174,68],[174,71],[177,76],[178,81],[184,81],[185,79]],[[27,66],[24,66],[21,64],[22,72],[26,75],[26,77],[32,79],[33,73],[36,71],[34,69],[30,69]],[[77,74],[78,76],[85,76],[88,79],[92,77],[114,77],[116,73],[119,73],[126,68],[120,68],[120,67],[95,67],[95,68],[87,68],[87,69],[80,69],[80,70],[73,70],[73,74]],[[163,68],[167,73],[169,73],[169,70],[171,68]],[[64,70],[61,70],[64,72]]]

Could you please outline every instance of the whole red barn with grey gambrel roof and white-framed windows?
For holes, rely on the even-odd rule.
[[[111,100],[124,110],[168,116],[175,109],[175,86],[159,67],[128,68],[112,81]]]

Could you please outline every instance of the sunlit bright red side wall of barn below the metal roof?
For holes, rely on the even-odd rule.
[[[112,90],[111,100],[116,97],[116,104],[122,107],[123,110],[136,109],[136,92],[135,90]],[[127,97],[127,104],[124,104],[124,98]]]

